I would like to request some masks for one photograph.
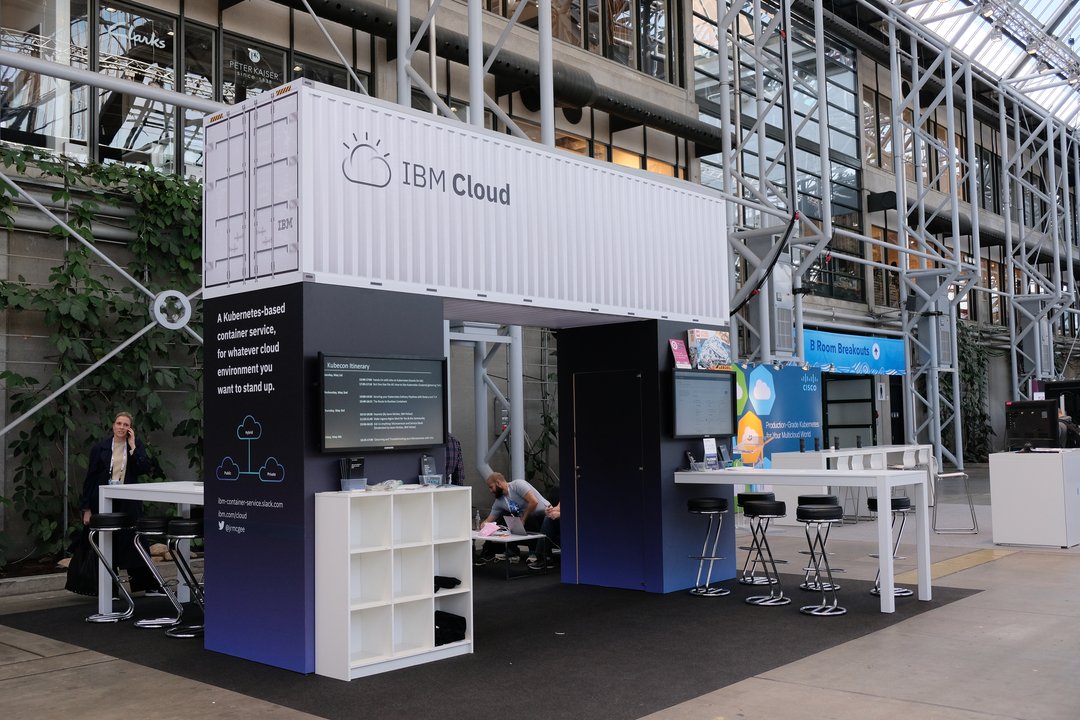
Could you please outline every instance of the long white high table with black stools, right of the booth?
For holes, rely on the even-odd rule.
[[[930,600],[930,514],[927,474],[921,470],[754,470],[730,467],[694,473],[675,473],[683,485],[789,485],[795,487],[875,488],[878,498],[889,498],[896,487],[913,486],[915,492],[915,543],[918,548],[919,599]],[[788,515],[795,508],[788,504]],[[892,513],[878,513],[878,569],[881,583],[881,612],[895,612],[893,596]],[[733,524],[725,524],[734,532]]]

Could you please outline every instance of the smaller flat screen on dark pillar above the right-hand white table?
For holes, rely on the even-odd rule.
[[[735,376],[717,370],[675,370],[675,437],[735,434]]]

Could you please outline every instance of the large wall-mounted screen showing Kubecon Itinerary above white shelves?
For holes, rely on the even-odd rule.
[[[324,452],[446,443],[446,363],[319,354]]]

